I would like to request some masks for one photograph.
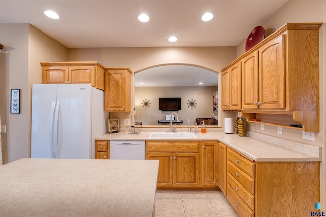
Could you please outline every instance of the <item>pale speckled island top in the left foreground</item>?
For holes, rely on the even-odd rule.
[[[155,216],[158,164],[20,159],[0,166],[0,216]]]

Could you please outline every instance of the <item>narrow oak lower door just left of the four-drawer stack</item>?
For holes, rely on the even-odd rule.
[[[219,142],[219,188],[224,195],[226,192],[226,177],[227,177],[227,147],[223,143]]]

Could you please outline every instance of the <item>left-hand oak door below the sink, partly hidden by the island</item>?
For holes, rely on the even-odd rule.
[[[157,187],[172,187],[173,153],[147,153],[146,159],[159,160]]]

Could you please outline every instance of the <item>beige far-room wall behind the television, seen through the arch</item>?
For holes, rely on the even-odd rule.
[[[165,115],[171,111],[159,110],[160,97],[181,97],[181,110],[176,111],[179,119],[183,120],[183,125],[195,125],[196,118],[217,119],[217,114],[212,112],[212,94],[217,87],[136,87],[135,88],[135,121],[142,122],[143,125],[157,125],[157,120],[164,120]],[[143,100],[150,100],[149,108],[143,107]],[[188,107],[188,100],[196,100],[195,107]]]

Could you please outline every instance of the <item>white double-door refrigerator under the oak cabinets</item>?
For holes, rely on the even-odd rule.
[[[104,91],[90,84],[34,84],[31,157],[94,159],[107,119]]]

